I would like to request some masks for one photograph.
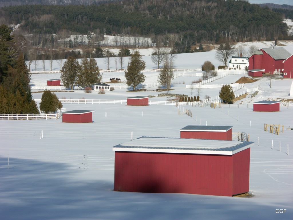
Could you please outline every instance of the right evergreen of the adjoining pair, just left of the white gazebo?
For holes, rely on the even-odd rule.
[[[94,58],[82,59],[80,72],[78,74],[78,84],[82,87],[91,87],[102,80],[97,61]]]

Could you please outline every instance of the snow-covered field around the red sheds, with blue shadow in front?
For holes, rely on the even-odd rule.
[[[291,45],[286,47],[290,48]],[[149,56],[143,58],[147,68],[155,68]],[[213,51],[180,54],[175,65],[177,68],[196,68],[205,60],[210,60],[215,66],[219,65]],[[127,66],[127,62],[125,64]],[[98,65],[105,68],[102,60],[98,61]],[[46,69],[48,68],[49,65],[46,65]],[[58,69],[57,62],[54,69]],[[145,74],[147,82],[156,81],[158,73]],[[103,75],[103,79],[107,82],[107,78],[114,76],[122,79],[123,75],[115,73],[114,76],[113,73],[108,73]],[[242,76],[247,75],[228,76],[211,84],[234,83]],[[47,79],[59,77],[34,74],[31,84],[40,86]],[[195,79],[197,77],[174,79],[174,90],[171,93],[191,95],[191,90],[186,89],[186,85]],[[0,219],[293,219],[293,130],[286,129],[293,127],[293,103],[282,102],[280,112],[252,111],[252,103],[255,101],[292,99],[288,96],[292,81],[273,78],[270,88],[270,79],[263,77],[245,85],[245,88],[259,88],[255,97],[248,95],[234,105],[224,105],[223,109],[198,106],[64,104],[67,111],[94,110],[93,123],[62,123],[62,118],[1,120]],[[126,92],[125,89],[115,89],[106,94],[56,92],[59,99],[125,100],[126,97],[148,95],[156,96],[151,100],[168,99],[157,97],[159,93],[161,92]],[[218,94],[219,89],[203,89],[200,97]],[[194,95],[197,95],[195,89]],[[33,93],[34,99],[40,99],[41,96],[42,93]],[[193,117],[178,115],[178,110],[182,112],[183,107],[184,110],[190,109]],[[250,134],[250,141],[255,142],[251,148],[250,162],[249,192],[252,197],[113,191],[113,146],[129,141],[131,132],[133,138],[178,138],[179,129],[187,125],[200,125],[200,121],[202,125],[233,126],[232,132]],[[276,135],[264,131],[264,123],[284,125],[284,133]],[[43,138],[40,138],[41,131]],[[276,213],[276,209],[286,209],[286,212]]]

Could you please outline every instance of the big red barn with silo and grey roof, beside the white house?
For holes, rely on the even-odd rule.
[[[256,51],[249,57],[249,70],[263,69],[268,73],[283,72],[283,61],[290,57],[291,54],[282,47],[270,47],[262,48],[260,51]]]

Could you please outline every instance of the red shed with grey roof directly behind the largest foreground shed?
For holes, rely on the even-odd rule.
[[[188,125],[180,129],[180,138],[232,141],[232,127]]]

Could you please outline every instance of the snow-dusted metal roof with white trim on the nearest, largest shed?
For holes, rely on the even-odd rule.
[[[187,138],[140,137],[113,147],[113,151],[233,155],[254,142],[215,141]]]

